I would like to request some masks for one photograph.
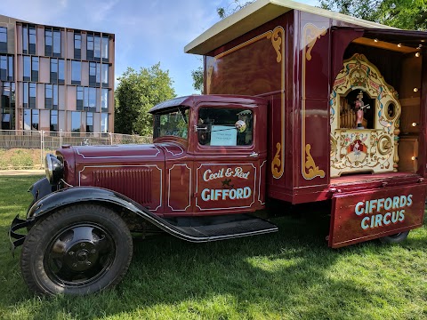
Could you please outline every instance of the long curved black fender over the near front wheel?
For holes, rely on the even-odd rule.
[[[134,202],[132,199],[115,191],[105,188],[96,187],[73,187],[63,188],[52,192],[47,196],[40,198],[27,212],[27,221],[34,221],[46,214],[55,212],[62,207],[73,204],[81,204],[85,202],[99,204],[116,204],[130,212],[134,212],[141,218],[152,223],[154,226],[164,230],[172,236],[181,238],[189,242],[207,242],[210,241],[209,236],[205,236],[198,232],[184,231],[183,228],[176,227],[165,219],[150,212],[147,208]]]

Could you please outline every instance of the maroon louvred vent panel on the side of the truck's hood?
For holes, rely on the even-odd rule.
[[[152,199],[152,170],[119,169],[93,172],[93,186],[108,188],[149,207]]]

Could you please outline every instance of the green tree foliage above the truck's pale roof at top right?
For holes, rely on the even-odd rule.
[[[425,30],[427,0],[320,0],[320,7],[391,27]]]

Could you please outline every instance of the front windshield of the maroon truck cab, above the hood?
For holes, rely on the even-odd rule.
[[[154,115],[154,138],[174,136],[188,137],[189,108],[171,109],[170,112]]]

